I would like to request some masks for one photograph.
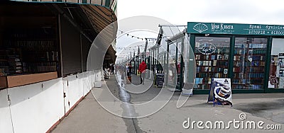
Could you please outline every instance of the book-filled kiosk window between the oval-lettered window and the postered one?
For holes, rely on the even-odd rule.
[[[263,88],[266,47],[267,38],[235,38],[232,88]]]

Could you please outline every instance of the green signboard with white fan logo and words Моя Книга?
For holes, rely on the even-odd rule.
[[[187,33],[234,34],[234,35],[284,35],[284,25],[188,22]]]

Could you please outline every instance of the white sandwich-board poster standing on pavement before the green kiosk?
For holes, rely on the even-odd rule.
[[[233,105],[231,100],[231,79],[213,78],[208,102],[214,105]]]

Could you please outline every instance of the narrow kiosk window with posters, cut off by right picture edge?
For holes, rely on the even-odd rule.
[[[273,38],[268,88],[284,88],[283,38]]]

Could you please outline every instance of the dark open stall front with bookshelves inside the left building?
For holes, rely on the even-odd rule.
[[[55,28],[7,29],[0,53],[0,76],[58,71]]]

